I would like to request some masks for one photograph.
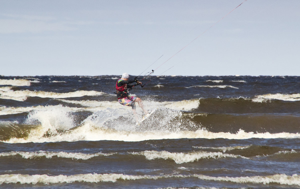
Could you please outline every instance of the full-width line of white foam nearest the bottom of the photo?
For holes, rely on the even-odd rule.
[[[268,176],[243,176],[243,177],[228,177],[228,176],[206,176],[206,175],[124,175],[124,174],[77,174],[77,175],[24,175],[24,174],[4,174],[0,175],[0,184],[20,183],[20,184],[54,184],[54,183],[73,183],[73,182],[118,182],[119,180],[140,180],[140,179],[164,179],[164,178],[197,178],[208,181],[223,181],[234,183],[250,183],[250,184],[285,184],[300,186],[300,176],[294,174],[292,176],[285,174],[275,174]]]

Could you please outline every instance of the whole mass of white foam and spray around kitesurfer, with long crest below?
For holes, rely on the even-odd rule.
[[[139,130],[135,125],[131,107],[122,106],[116,102],[98,101],[66,101],[80,103],[88,107],[63,107],[63,106],[37,106],[37,107],[0,107],[0,114],[11,114],[29,112],[27,123],[36,125],[26,138],[11,138],[7,143],[27,143],[27,142],[59,142],[59,141],[79,141],[79,140],[122,140],[122,141],[143,141],[179,138],[206,138],[206,139],[249,139],[249,138],[300,138],[296,133],[253,133],[243,130],[237,133],[213,133],[206,130],[184,131],[184,127],[193,128],[192,122],[172,122],[174,118],[183,114],[179,110],[191,110],[199,106],[199,99],[179,102],[152,102],[143,101],[145,107],[153,109],[159,107],[158,113],[164,116],[153,117],[152,123],[145,125],[143,130]],[[177,110],[176,110],[177,109]],[[73,128],[74,118],[71,112],[91,111],[93,114],[86,118],[80,127]],[[139,116],[142,110],[137,106]],[[120,121],[123,117],[127,121]],[[132,121],[132,123],[131,123]],[[146,124],[146,122],[145,122]],[[69,130],[73,128],[72,130]],[[57,130],[69,130],[59,133]],[[46,132],[52,134],[44,137]]]

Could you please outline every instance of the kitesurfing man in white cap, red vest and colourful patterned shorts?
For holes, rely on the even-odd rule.
[[[133,82],[136,82],[135,84],[131,84]],[[138,97],[128,97],[128,92],[132,89],[132,87],[137,86],[139,84],[142,84],[142,82],[139,82],[138,80],[129,80],[129,75],[128,73],[123,73],[122,78],[119,79],[116,83],[116,93],[117,93],[117,98],[120,104],[124,106],[131,106],[132,111],[134,113],[134,116],[138,122],[137,118],[137,111],[135,110],[135,102],[139,104],[139,106],[142,108],[144,111],[145,115],[148,114],[148,111],[144,109],[144,105],[142,103],[142,100]]]

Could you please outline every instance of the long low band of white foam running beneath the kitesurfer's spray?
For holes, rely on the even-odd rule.
[[[113,115],[112,115],[113,116]],[[106,119],[109,119],[105,117]],[[101,122],[105,122],[104,119]],[[116,123],[115,123],[116,124]],[[56,134],[50,137],[42,137],[45,133],[45,129],[37,128],[32,131],[27,138],[11,138],[6,143],[43,143],[43,142],[60,142],[60,141],[98,141],[98,140],[115,140],[115,141],[144,141],[144,140],[161,140],[161,139],[180,139],[180,138],[205,138],[205,139],[250,139],[250,138],[265,138],[265,139],[276,139],[276,138],[300,138],[299,133],[253,133],[245,132],[243,130],[238,131],[236,134],[232,133],[213,133],[206,130],[197,131],[178,131],[178,132],[167,132],[167,131],[151,131],[151,125],[147,126],[150,128],[148,131],[134,131],[135,122],[132,125],[115,125],[115,128],[104,128],[99,125],[98,122],[95,124],[92,121],[85,122],[81,127],[75,128],[70,131],[66,131],[63,134]],[[124,130],[118,130],[124,129]]]

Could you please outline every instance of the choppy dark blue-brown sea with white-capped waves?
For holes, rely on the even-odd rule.
[[[0,188],[300,188],[300,76],[119,78],[0,76]]]

